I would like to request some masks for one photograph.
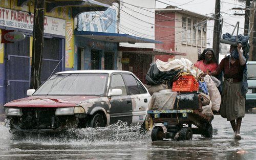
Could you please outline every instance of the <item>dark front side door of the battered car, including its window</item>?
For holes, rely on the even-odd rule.
[[[127,95],[125,83],[121,74],[113,74],[110,81],[111,89],[122,89],[121,96],[110,97],[110,124],[114,124],[119,120],[132,123],[132,99]]]

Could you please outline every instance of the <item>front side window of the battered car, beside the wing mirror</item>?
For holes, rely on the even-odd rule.
[[[115,74],[111,78],[110,89],[122,89],[122,96],[126,96],[126,88],[121,74]]]

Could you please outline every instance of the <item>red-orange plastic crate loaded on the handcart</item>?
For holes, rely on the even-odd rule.
[[[173,82],[173,91],[176,92],[193,92],[198,91],[199,83],[194,76],[180,76]]]

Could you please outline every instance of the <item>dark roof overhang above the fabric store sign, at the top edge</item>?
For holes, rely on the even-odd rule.
[[[31,0],[17,0],[17,6],[23,7],[24,5],[27,5],[30,1]],[[52,12],[55,8],[58,7],[71,7],[72,17],[76,17],[78,14],[83,12],[105,11],[110,6],[93,0],[46,1],[46,12]]]

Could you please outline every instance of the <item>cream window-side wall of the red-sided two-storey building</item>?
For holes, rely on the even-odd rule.
[[[193,42],[190,42],[189,39],[186,39],[185,41],[182,40],[182,17],[189,17],[191,18],[191,21],[197,20],[197,23],[199,21],[202,21],[202,19],[191,17],[189,15],[176,13],[175,18],[179,19],[176,21],[175,25],[175,51],[186,53],[186,56],[175,56],[175,58],[180,59],[181,57],[189,59],[191,62],[195,63],[198,60],[198,56],[203,52],[203,50],[206,48],[206,42],[204,45],[198,44],[198,30],[196,30],[197,40],[196,44],[193,44]],[[201,36],[202,37],[202,32]],[[193,27],[191,27],[191,34],[190,39],[193,40]],[[201,38],[202,40],[202,38]]]

